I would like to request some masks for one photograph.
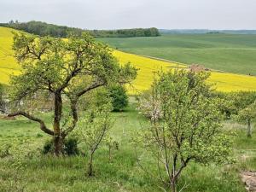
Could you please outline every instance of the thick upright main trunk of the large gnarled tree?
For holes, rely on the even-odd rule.
[[[63,139],[61,137],[61,114],[62,114],[62,99],[61,92],[55,93],[55,114],[54,114],[54,144],[55,144],[55,155],[59,156],[62,153]]]

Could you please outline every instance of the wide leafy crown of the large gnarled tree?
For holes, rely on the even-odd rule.
[[[83,33],[67,39],[15,34],[15,57],[22,74],[14,76],[18,98],[37,90],[63,91],[81,96],[84,91],[108,84],[127,83],[136,77],[130,64],[119,66],[112,50]]]

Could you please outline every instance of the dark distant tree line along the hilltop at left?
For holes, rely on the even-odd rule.
[[[39,36],[51,36],[55,38],[67,38],[68,35],[81,35],[82,32],[90,32],[95,38],[132,38],[132,37],[156,37],[160,36],[157,28],[136,28],[119,30],[83,30],[68,26],[56,26],[41,21],[19,22],[11,20],[9,23],[0,23],[0,26],[14,28],[23,32],[29,32]]]

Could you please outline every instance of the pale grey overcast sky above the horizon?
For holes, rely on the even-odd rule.
[[[256,0],[0,0],[0,22],[86,29],[256,29]]]

